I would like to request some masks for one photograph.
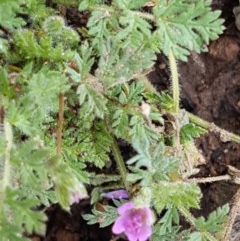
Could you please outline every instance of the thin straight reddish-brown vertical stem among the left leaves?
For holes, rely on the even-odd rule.
[[[58,110],[58,130],[57,130],[57,155],[61,155],[62,152],[62,130],[63,130],[63,120],[64,120],[64,95],[59,94],[59,110]]]

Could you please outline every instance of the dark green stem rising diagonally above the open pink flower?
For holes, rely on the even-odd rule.
[[[112,138],[112,140],[113,140],[112,153],[113,153],[114,159],[117,163],[117,167],[118,167],[119,173],[121,175],[123,185],[124,185],[125,189],[127,190],[127,192],[129,192],[129,183],[127,181],[127,169],[126,169],[125,163],[123,161],[122,155],[120,153],[120,150],[118,148],[117,142],[114,139],[114,137]]]

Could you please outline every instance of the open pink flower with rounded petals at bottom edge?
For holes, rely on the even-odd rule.
[[[115,221],[112,231],[125,233],[129,241],[146,241],[151,233],[152,215],[148,207],[136,208],[128,202],[118,208],[120,216]]]

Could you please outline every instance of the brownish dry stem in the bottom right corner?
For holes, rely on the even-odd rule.
[[[228,221],[227,221],[227,225],[226,225],[226,229],[225,229],[224,237],[223,237],[222,241],[230,240],[232,227],[233,227],[234,221],[236,219],[236,216],[238,214],[239,208],[240,208],[240,188],[238,188],[236,194],[234,195],[233,205],[232,205],[231,211],[228,215]]]

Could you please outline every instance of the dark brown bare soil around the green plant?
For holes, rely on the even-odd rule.
[[[189,112],[214,122],[228,131],[240,134],[240,31],[235,26],[233,7],[238,0],[214,0],[214,9],[222,10],[226,30],[210,44],[209,52],[192,53],[187,63],[178,63],[181,82],[181,104]],[[169,87],[167,60],[159,55],[156,71],[149,79],[160,89]],[[206,159],[199,177],[218,176],[227,173],[227,165],[240,169],[240,145],[221,142],[214,134],[207,134],[196,141]],[[201,185],[203,198],[201,212],[207,215],[217,207],[229,202],[239,187],[221,181]],[[58,206],[47,209],[49,217],[45,237],[32,237],[34,241],[110,241],[111,229],[87,226],[81,214],[90,211],[88,202],[74,205],[71,214]],[[233,241],[240,241],[240,215],[232,233]]]

